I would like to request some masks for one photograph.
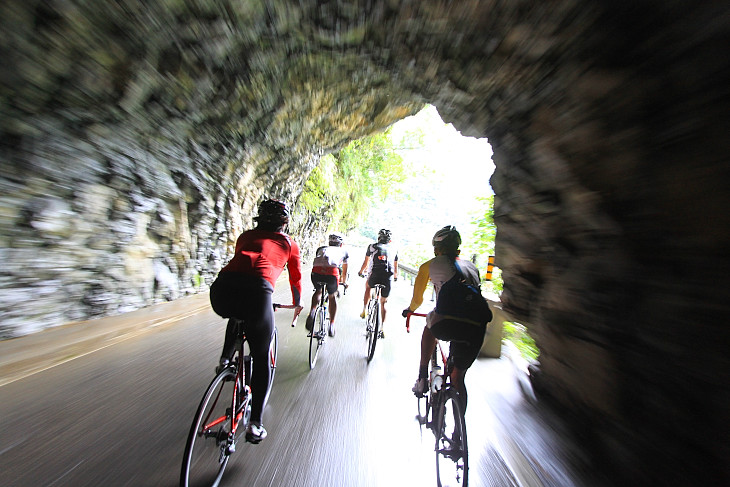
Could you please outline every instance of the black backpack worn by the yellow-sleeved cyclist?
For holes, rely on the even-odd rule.
[[[436,312],[479,325],[492,321],[492,311],[478,286],[467,284],[461,267],[454,260],[456,274],[446,281],[436,298]]]

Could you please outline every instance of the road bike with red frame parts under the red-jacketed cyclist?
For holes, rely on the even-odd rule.
[[[296,307],[274,304],[274,310],[277,308]],[[181,487],[216,487],[223,477],[231,454],[236,451],[236,442],[248,427],[251,418],[253,360],[242,324],[241,320],[237,320],[236,336],[240,340],[236,342],[233,360],[216,374],[195,413],[185,443],[180,472]],[[274,327],[267,364],[271,369],[269,391],[276,371],[278,347],[279,333]]]

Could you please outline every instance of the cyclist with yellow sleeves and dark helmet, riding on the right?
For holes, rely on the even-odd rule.
[[[433,283],[438,296],[441,286],[456,274],[454,261],[457,259],[467,284],[479,287],[479,271],[476,266],[458,257],[461,236],[456,227],[450,225],[443,227],[436,232],[431,243],[435,257],[419,267],[413,283],[411,304],[403,310],[403,317],[414,312],[423,303],[423,293],[429,280]],[[435,310],[428,313],[426,326],[421,335],[421,361],[418,367],[418,380],[413,386],[414,394],[423,396],[428,390],[428,362],[436,348],[436,340],[451,341],[449,358],[454,364],[451,383],[462,396],[466,410],[467,393],[464,375],[482,348],[485,332],[486,324],[474,324],[453,316],[440,315]]]

